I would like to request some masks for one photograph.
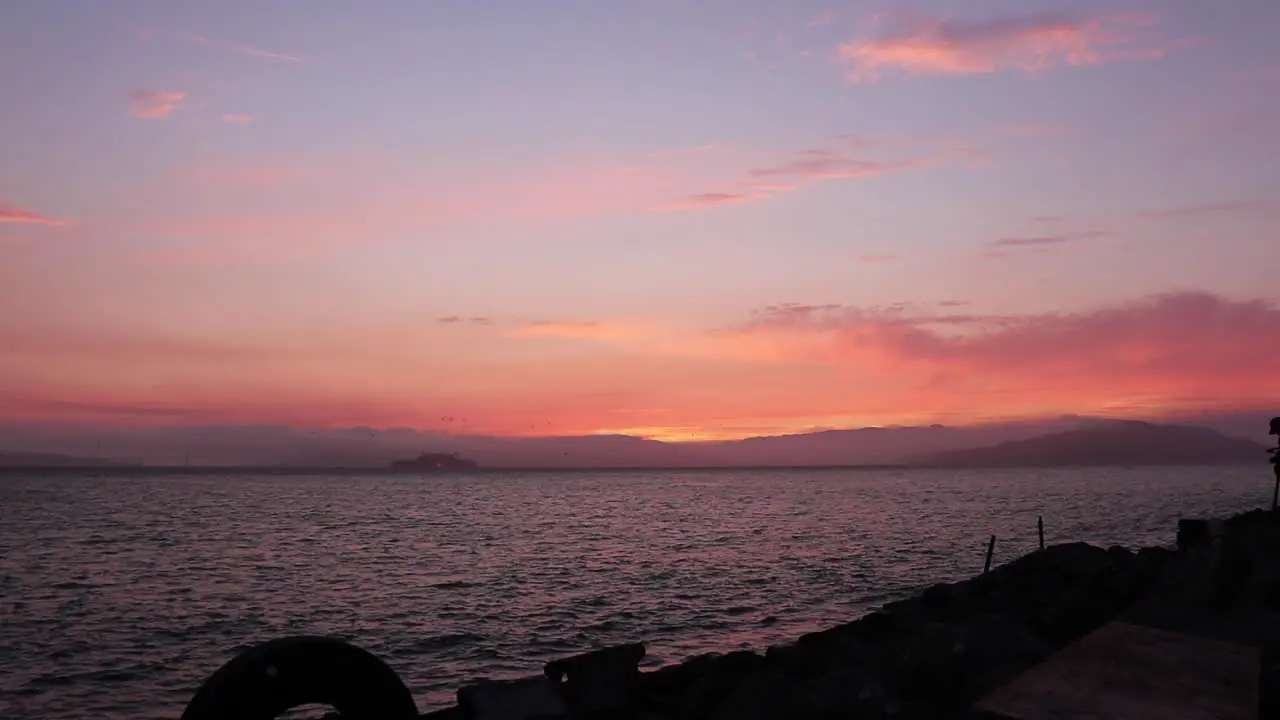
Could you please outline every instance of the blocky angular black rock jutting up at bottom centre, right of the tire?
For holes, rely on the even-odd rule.
[[[548,662],[547,676],[576,714],[617,711],[635,702],[644,644],[621,644]]]

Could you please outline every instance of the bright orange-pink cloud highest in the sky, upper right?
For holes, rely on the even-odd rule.
[[[1120,29],[1138,24],[1064,14],[978,22],[913,18],[881,37],[841,45],[837,56],[850,65],[855,82],[873,81],[886,69],[918,76],[965,76],[1158,56],[1158,50],[1135,47],[1133,38]]]

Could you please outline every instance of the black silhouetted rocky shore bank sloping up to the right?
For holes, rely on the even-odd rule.
[[[701,655],[640,673],[644,646],[598,650],[536,678],[465,687],[458,706],[421,717],[969,717],[983,697],[1114,620],[1261,648],[1258,705],[1276,717],[1280,520],[1258,510],[1179,530],[1176,551],[1051,546],[763,655]]]

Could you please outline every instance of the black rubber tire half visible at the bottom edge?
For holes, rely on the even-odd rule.
[[[413,696],[375,655],[335,638],[292,637],[251,647],[218,669],[182,720],[273,720],[302,705],[343,720],[417,720]]]

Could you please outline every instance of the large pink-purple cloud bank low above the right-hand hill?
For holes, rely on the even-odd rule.
[[[781,305],[737,332],[822,337],[796,347],[824,363],[918,377],[934,409],[975,392],[1029,393],[1039,407],[1280,401],[1280,306],[1271,301],[1183,291],[1080,313],[913,310]]]

